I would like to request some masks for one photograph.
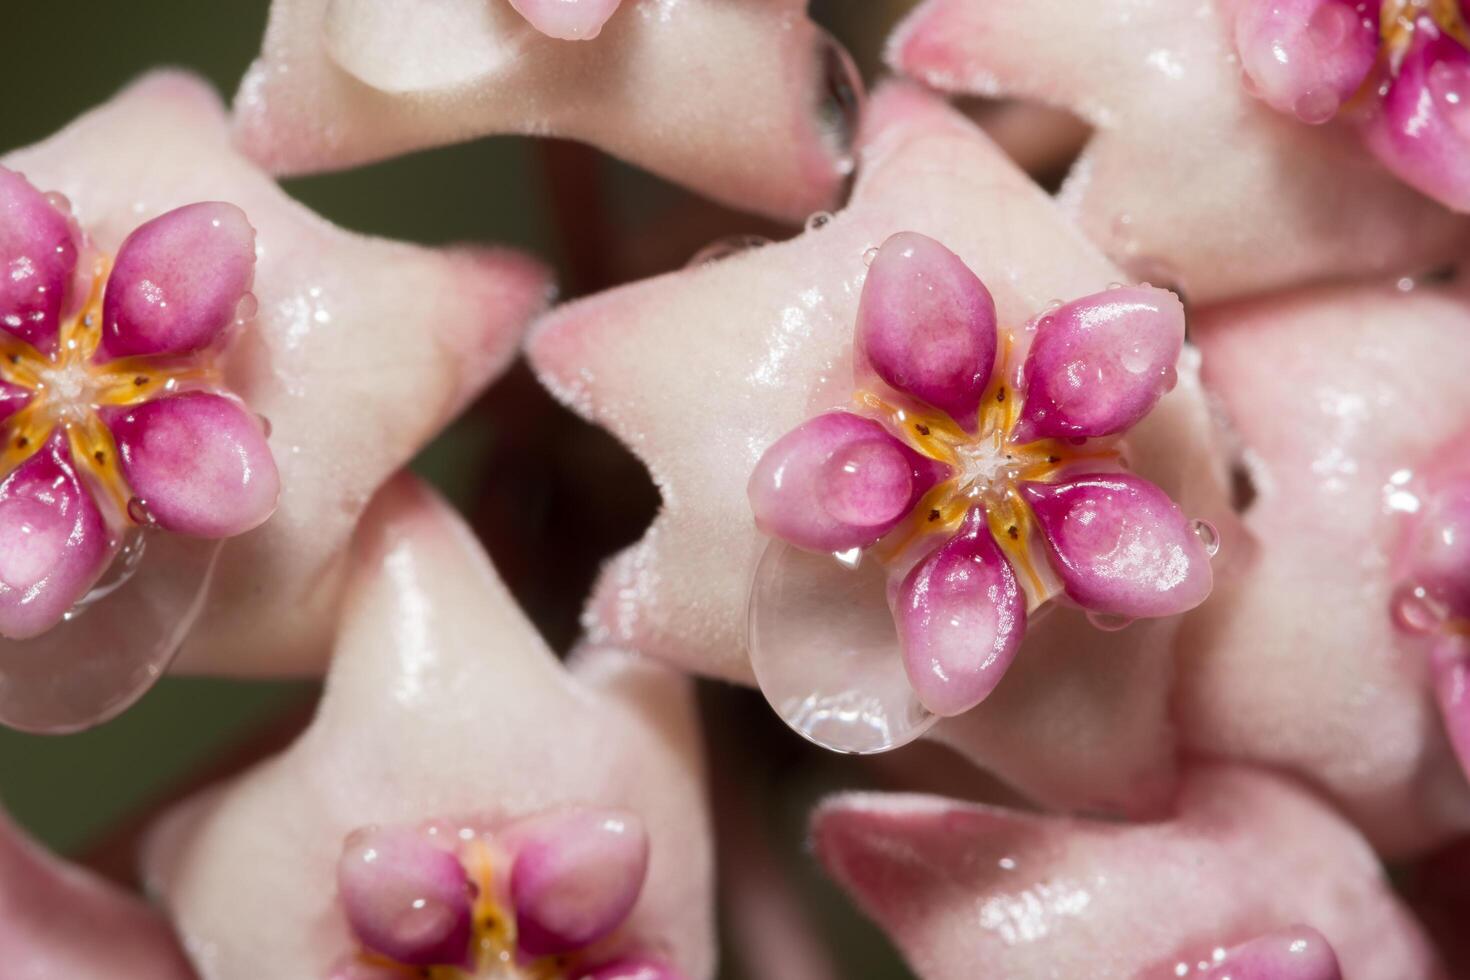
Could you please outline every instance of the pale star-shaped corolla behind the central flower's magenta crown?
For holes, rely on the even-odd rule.
[[[598,582],[587,611],[594,638],[754,683],[747,613],[770,539],[753,520],[747,485],[785,433],[828,410],[853,411],[853,331],[872,275],[864,254],[904,231],[958,256],[988,285],[997,322],[1011,328],[1053,300],[1107,295],[1125,278],[969,120],[889,85],[864,118],[845,210],[792,241],[560,307],[532,334],[542,381],[622,438],[663,495],[647,536]],[[1225,454],[1195,372],[1186,348],[1179,383],[1129,433],[1129,463],[1183,513],[1220,529],[1222,572],[1236,538]],[[808,617],[785,619],[786,652],[776,661],[825,666],[823,682],[836,682],[841,664],[804,658],[791,644],[810,636],[831,651],[847,638],[879,654],[863,660],[882,669],[861,679],[863,691],[911,701],[883,582],[861,574],[878,563],[854,577],[828,557],[795,551],[800,558],[828,579],[789,579],[813,601]],[[833,582],[873,588],[848,597]],[[1025,649],[985,704],[933,736],[1048,805],[1160,808],[1175,773],[1169,689],[1179,617],[1101,632],[1079,608],[1053,607],[1029,624]]]

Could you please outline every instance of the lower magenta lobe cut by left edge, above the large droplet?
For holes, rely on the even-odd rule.
[[[59,623],[110,557],[101,511],[57,429],[0,483],[0,636],[26,639]]]

